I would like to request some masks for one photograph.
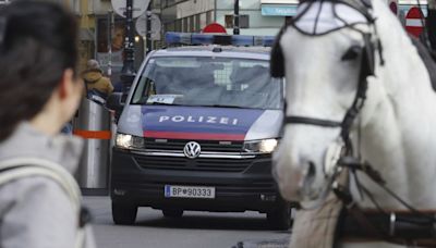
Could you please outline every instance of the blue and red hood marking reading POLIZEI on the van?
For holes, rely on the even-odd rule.
[[[244,140],[258,109],[144,106],[144,137],[196,140]]]

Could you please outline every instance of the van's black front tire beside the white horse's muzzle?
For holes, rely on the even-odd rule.
[[[276,208],[266,213],[267,222],[270,228],[287,231],[292,226],[293,209],[291,203],[280,199]]]

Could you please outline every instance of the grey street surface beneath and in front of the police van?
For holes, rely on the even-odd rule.
[[[184,212],[181,219],[165,219],[159,210],[140,208],[134,226],[112,222],[109,197],[84,197],[93,214],[98,248],[283,248],[290,232],[270,231],[265,214],[257,212]],[[264,241],[264,243],[263,243]],[[262,244],[262,245],[261,245]]]

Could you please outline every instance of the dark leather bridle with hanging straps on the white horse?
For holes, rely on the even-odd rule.
[[[340,153],[338,154],[338,158],[335,161],[335,168],[334,170],[328,170],[325,174],[327,178],[330,178],[329,183],[331,185],[328,185],[329,187],[332,188],[332,191],[336,194],[336,196],[343,202],[348,211],[351,213],[351,215],[354,216],[358,224],[361,225],[363,228],[373,228],[373,230],[379,230],[377,228],[377,223],[374,223],[370,220],[367,214],[364,213],[363,210],[359,208],[359,206],[355,203],[353,197],[351,196],[349,187],[341,186],[337,177],[341,173],[342,169],[348,169],[350,172],[350,175],[354,177],[354,182],[358,186],[358,189],[361,194],[365,194],[368,196],[368,198],[372,200],[372,202],[376,206],[376,211],[378,211],[379,214],[382,215],[387,215],[389,218],[389,231],[387,233],[383,234],[374,234],[377,235],[378,238],[384,239],[386,241],[390,243],[396,243],[396,244],[416,244],[416,238],[409,238],[409,239],[402,239],[399,238],[398,235],[396,235],[396,230],[395,226],[397,222],[399,223],[398,220],[396,220],[396,213],[395,212],[386,212],[384,209],[382,209],[378,203],[375,201],[373,195],[359,182],[359,177],[356,175],[356,171],[364,172],[371,179],[373,179],[376,184],[378,184],[382,188],[384,188],[391,197],[393,197],[396,200],[398,200],[400,203],[402,203],[407,209],[409,209],[411,215],[409,220],[402,220],[402,223],[411,224],[411,225],[417,225],[417,226],[423,226],[422,228],[433,230],[433,235],[431,238],[436,238],[436,218],[434,215],[421,212],[416,209],[414,209],[412,206],[408,204],[404,200],[402,200],[399,196],[397,196],[392,190],[390,190],[386,185],[385,181],[383,179],[383,176],[366,161],[362,161],[359,157],[354,156],[353,152],[353,145],[351,142],[350,138],[350,133],[352,125],[356,121],[364,103],[366,100],[366,91],[367,91],[367,77],[368,76],[376,76],[375,75],[375,55],[376,55],[376,50],[378,50],[378,55],[379,55],[379,63],[380,65],[384,65],[384,58],[383,58],[383,47],[380,44],[380,40],[377,36],[376,27],[375,27],[375,18],[372,17],[371,10],[372,5],[371,2],[367,2],[365,0],[359,1],[359,0],[322,0],[320,2],[325,1],[330,1],[334,4],[335,3],[342,3],[347,4],[351,8],[354,8],[358,10],[360,13],[362,13],[363,16],[366,17],[367,24],[370,25],[371,29],[374,30],[373,34],[375,34],[375,37],[372,37],[371,33],[364,33],[360,29],[356,29],[353,25],[344,25],[344,27],[353,28],[354,30],[359,32],[363,36],[364,40],[364,47],[361,50],[361,70],[360,70],[360,75],[359,75],[359,82],[358,82],[358,88],[354,96],[354,100],[352,104],[349,107],[347,110],[342,121],[331,121],[331,120],[325,120],[325,119],[316,119],[316,117],[308,117],[308,116],[301,116],[301,115],[289,115],[286,116],[283,120],[283,126],[289,125],[289,124],[303,124],[303,125],[313,125],[313,126],[320,126],[325,128],[340,128],[340,141],[342,147],[340,148]],[[292,25],[295,29],[299,32],[303,33],[304,35],[308,36],[318,36],[319,34],[310,34],[304,30],[301,30],[298,28],[295,23],[299,21],[301,16],[305,14],[305,12],[310,9],[311,3],[308,3],[308,7],[301,12],[299,16],[296,16],[293,22],[289,23],[288,25]],[[330,30],[328,33],[335,32],[337,29]],[[326,33],[325,33],[326,34]],[[320,35],[325,35],[320,34]],[[286,108],[284,108],[284,114],[286,114]],[[409,216],[409,215],[408,215]],[[420,218],[420,222],[416,223],[414,218]],[[412,220],[413,219],[413,220]],[[392,227],[393,226],[393,227]],[[432,233],[432,232],[429,232]],[[412,241],[411,241],[412,240]],[[425,244],[421,244],[423,246],[426,246]],[[436,245],[435,243],[432,243],[431,247],[434,247]]]

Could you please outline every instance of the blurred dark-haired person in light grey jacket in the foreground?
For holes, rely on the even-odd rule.
[[[95,247],[70,174],[78,164],[82,140],[59,134],[83,92],[75,72],[76,40],[76,17],[58,4],[13,1],[0,8],[0,164],[23,158],[48,161],[52,171],[64,172],[62,178],[70,179],[77,196],[72,200],[62,181],[50,176],[1,184],[2,248]]]

